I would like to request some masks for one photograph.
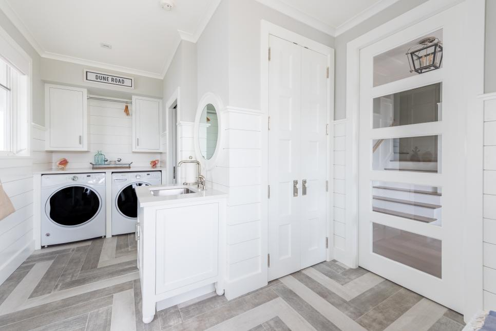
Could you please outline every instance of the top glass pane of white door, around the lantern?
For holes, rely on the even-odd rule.
[[[374,57],[374,86],[383,85],[400,79],[418,76],[410,72],[407,51],[410,47],[418,45],[419,41],[427,36],[433,36],[443,41],[443,29],[423,35],[421,38],[409,41],[401,46],[390,49]],[[442,64],[441,64],[442,66]]]

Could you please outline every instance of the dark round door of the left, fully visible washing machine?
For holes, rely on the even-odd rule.
[[[56,191],[45,207],[52,222],[66,227],[90,222],[101,208],[98,193],[86,186],[68,186]]]

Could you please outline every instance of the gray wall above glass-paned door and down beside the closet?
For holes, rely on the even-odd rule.
[[[358,36],[394,19],[394,17],[403,14],[426,1],[427,0],[400,0],[370,17],[370,19],[336,37],[335,120],[344,119],[346,117],[346,44]]]

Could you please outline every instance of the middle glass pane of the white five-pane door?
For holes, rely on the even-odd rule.
[[[376,139],[372,169],[437,173],[441,169],[441,136]]]

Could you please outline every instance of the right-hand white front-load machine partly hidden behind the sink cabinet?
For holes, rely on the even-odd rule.
[[[135,232],[139,186],[161,185],[162,172],[112,173],[112,235]]]

